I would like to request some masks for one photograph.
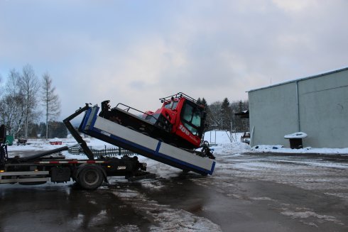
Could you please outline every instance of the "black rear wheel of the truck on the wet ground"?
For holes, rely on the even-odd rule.
[[[77,183],[84,189],[97,189],[104,181],[104,175],[98,167],[84,167],[77,177]]]

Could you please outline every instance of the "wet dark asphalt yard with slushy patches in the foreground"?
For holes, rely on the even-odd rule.
[[[212,177],[112,177],[95,191],[73,182],[1,184],[0,231],[212,231],[211,224],[216,231],[348,231],[345,161],[326,167],[325,159],[285,157],[222,157]],[[177,213],[195,220],[170,220]]]

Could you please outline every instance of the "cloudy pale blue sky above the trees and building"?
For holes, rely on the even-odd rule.
[[[348,67],[347,0],[0,0],[0,75],[48,72],[60,119],[86,102],[209,104]]]

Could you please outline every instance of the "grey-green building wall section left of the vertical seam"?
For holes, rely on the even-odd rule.
[[[294,83],[249,92],[251,145],[288,145],[283,137],[297,128],[297,100]]]

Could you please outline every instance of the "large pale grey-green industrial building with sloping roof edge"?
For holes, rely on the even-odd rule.
[[[284,136],[301,131],[304,148],[348,148],[348,67],[248,95],[251,146],[288,148]]]

